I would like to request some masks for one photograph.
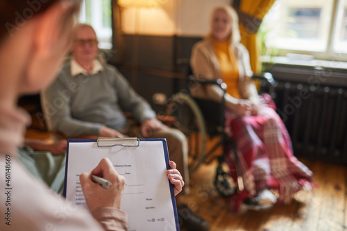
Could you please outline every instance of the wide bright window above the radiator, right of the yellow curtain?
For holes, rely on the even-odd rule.
[[[277,55],[347,61],[347,0],[277,0],[260,33]]]

